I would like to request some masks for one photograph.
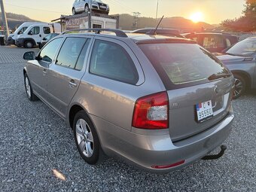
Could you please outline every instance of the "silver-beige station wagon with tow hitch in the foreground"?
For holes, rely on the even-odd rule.
[[[83,30],[25,53],[23,74],[28,98],[66,120],[87,163],[107,154],[169,172],[224,154],[234,78],[215,56],[184,38]]]

